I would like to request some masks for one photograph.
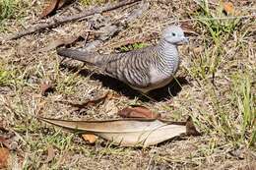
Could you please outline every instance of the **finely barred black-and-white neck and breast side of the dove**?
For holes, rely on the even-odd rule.
[[[164,75],[174,75],[179,65],[177,46],[162,39],[158,46],[157,68]]]

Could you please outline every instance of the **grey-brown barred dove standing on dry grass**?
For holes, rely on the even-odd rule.
[[[104,74],[146,93],[171,82],[180,63],[177,46],[185,42],[188,38],[182,28],[169,26],[155,46],[115,54],[59,48],[57,54],[93,64]]]

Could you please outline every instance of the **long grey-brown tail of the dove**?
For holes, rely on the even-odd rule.
[[[91,63],[96,66],[100,66],[108,58],[107,55],[105,56],[97,53],[89,53],[86,51],[68,48],[58,48],[57,54],[62,57],[72,58],[86,63]]]

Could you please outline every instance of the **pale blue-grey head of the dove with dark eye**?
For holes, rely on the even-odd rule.
[[[165,28],[161,36],[165,41],[171,44],[180,45],[188,42],[188,38],[184,35],[182,28],[178,26],[169,26]]]

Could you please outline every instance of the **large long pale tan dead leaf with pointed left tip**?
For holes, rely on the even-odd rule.
[[[186,122],[170,122],[158,119],[107,121],[67,121],[40,117],[38,119],[67,130],[82,134],[94,134],[123,146],[147,147],[186,134],[188,129]]]

